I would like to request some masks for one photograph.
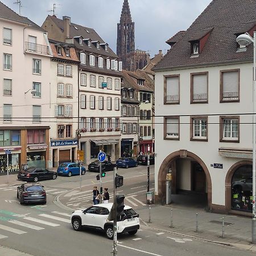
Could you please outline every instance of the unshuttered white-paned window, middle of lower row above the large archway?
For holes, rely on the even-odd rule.
[[[207,141],[207,117],[191,118],[191,141]]]

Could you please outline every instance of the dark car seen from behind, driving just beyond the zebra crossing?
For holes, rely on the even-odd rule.
[[[17,198],[20,204],[46,204],[46,191],[40,183],[24,183],[17,188]]]

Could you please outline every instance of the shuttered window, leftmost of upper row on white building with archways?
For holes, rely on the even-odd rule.
[[[164,104],[179,104],[180,76],[164,77]]]

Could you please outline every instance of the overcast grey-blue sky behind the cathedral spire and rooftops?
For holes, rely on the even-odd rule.
[[[17,0],[0,0],[19,13]],[[91,27],[116,52],[117,23],[123,0],[20,0],[21,15],[42,25],[56,3],[55,15],[71,17],[71,22]],[[129,0],[131,18],[135,22],[135,48],[148,51],[153,57],[159,49],[170,47],[166,40],[177,31],[187,30],[211,0]]]

